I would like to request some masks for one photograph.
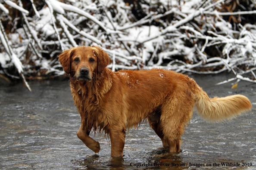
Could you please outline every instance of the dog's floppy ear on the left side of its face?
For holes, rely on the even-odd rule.
[[[70,73],[70,60],[71,60],[71,57],[72,57],[74,52],[75,52],[74,48],[71,48],[71,49],[67,49],[67,50],[63,51],[59,55],[59,62],[62,65],[63,70],[67,74]]]

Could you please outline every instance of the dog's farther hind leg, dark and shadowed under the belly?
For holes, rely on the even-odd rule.
[[[169,146],[167,140],[165,140],[164,135],[162,133],[161,125],[160,125],[160,117],[161,111],[156,110],[147,116],[147,120],[150,124],[150,127],[156,132],[157,136],[162,140],[162,146]]]

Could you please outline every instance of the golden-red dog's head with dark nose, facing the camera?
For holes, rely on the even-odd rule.
[[[109,55],[98,46],[75,47],[59,55],[64,71],[78,81],[91,81],[104,71],[109,60]]]

